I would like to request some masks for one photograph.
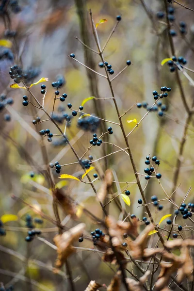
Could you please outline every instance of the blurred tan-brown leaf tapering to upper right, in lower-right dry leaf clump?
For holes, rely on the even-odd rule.
[[[129,253],[133,259],[143,259],[144,250],[146,248],[147,240],[149,238],[148,233],[154,226],[146,226],[146,228],[139,234],[135,241],[128,241]]]

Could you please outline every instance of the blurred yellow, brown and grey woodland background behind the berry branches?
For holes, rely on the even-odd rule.
[[[192,0],[179,1],[194,9]],[[67,103],[71,103],[72,108],[78,110],[86,97],[111,97],[110,88],[105,79],[94,73],[88,73],[85,67],[68,57],[70,53],[74,53],[81,63],[92,65],[97,72],[104,74],[104,70],[98,67],[101,61],[99,56],[95,53],[91,56],[91,52],[85,51],[75,38],[77,36],[81,40],[88,40],[90,46],[97,49],[92,35],[89,8],[92,9],[95,23],[100,19],[107,19],[97,28],[102,46],[116,23],[116,16],[122,16],[122,20],[106,46],[104,57],[113,66],[114,75],[123,69],[127,60],[132,62],[132,65],[113,81],[113,90],[120,113],[132,107],[123,116],[127,133],[134,127],[134,123],[127,123],[127,120],[136,118],[139,121],[147,111],[143,107],[137,108],[136,103],[147,102],[148,106],[152,106],[153,90],[160,92],[161,86],[172,89],[169,96],[162,99],[162,104],[166,105],[163,116],[159,116],[161,109],[155,108],[155,111],[150,112],[129,137],[137,171],[144,174],[147,155],[157,156],[161,162],[158,171],[162,174],[162,186],[169,195],[172,193],[179,144],[184,133],[187,115],[175,73],[170,72],[167,64],[161,66],[161,61],[172,55],[166,33],[165,17],[157,16],[158,12],[164,11],[163,1],[145,0],[145,3],[149,17],[140,0],[0,1],[0,39],[12,42],[12,48],[1,47],[0,50],[0,94],[2,94],[0,105],[9,98],[14,100],[13,105],[11,101],[7,102],[6,106],[0,106],[0,216],[11,213],[19,217],[17,222],[5,224],[6,236],[0,236],[0,282],[6,288],[12,284],[16,291],[68,290],[65,268],[59,274],[52,272],[56,251],[38,240],[25,241],[27,231],[22,228],[26,226],[26,215],[30,214],[33,218],[40,218],[40,216],[30,210],[27,205],[13,200],[11,196],[14,194],[22,198],[28,204],[54,218],[50,185],[44,175],[47,161],[58,161],[60,164],[77,161],[62,137],[54,136],[52,143],[49,143],[47,138],[41,138],[38,133],[41,129],[48,128],[54,134],[59,134],[59,132],[50,121],[36,126],[32,124],[32,120],[37,116],[41,120],[47,119],[47,116],[31,104],[27,107],[22,105],[22,96],[26,94],[26,91],[9,88],[9,85],[13,83],[9,70],[14,64],[22,67],[30,76],[29,84],[42,77],[49,78],[49,81],[44,83],[47,86],[45,108],[49,113],[52,112],[55,91],[51,83],[62,81],[63,86],[59,89],[60,96],[65,93],[67,98],[65,102],[56,100],[54,119],[63,131],[65,129],[64,114],[72,117]],[[171,24],[177,32],[177,36],[173,37],[176,56],[183,56],[187,60],[186,66],[194,70],[194,12],[175,3],[168,5],[175,8],[172,14],[175,20],[171,21]],[[179,32],[180,21],[186,22],[186,35]],[[5,53],[4,49],[8,52]],[[193,78],[194,72],[188,71],[188,74]],[[183,74],[180,74],[180,78],[188,104],[192,104],[194,87]],[[41,102],[43,95],[40,93],[40,85],[33,86],[32,92]],[[30,96],[28,97],[31,100]],[[90,100],[84,105],[83,112],[118,123],[111,99],[96,102]],[[87,119],[84,124],[78,120],[79,116],[78,114],[71,118],[66,128],[66,135],[79,156],[90,146],[89,141],[93,138],[93,133],[96,132],[99,136],[108,126],[112,126],[113,135],[109,135],[106,141],[121,148],[126,147],[122,131],[118,126],[103,122],[94,123],[94,119]],[[176,191],[178,204],[189,187],[194,186],[193,120],[188,126],[186,124],[186,128],[186,143],[183,156],[180,157],[182,164],[177,182],[177,186],[181,185]],[[113,145],[104,144],[100,147],[92,147],[85,159],[88,158],[88,154],[91,154],[96,160],[115,150]],[[130,160],[126,159],[124,152],[114,154],[106,161],[100,160],[95,163],[95,167],[95,171],[91,172],[92,175],[98,172],[101,177],[108,167],[113,169],[114,180],[134,181],[135,179]],[[61,174],[76,176],[83,173],[80,171],[80,165],[74,164],[63,167]],[[58,178],[59,174],[55,171],[53,171],[53,176],[56,183],[61,181]],[[144,187],[145,178],[140,177],[140,180]],[[96,180],[95,187],[99,189],[100,185],[100,180]],[[126,188],[124,184],[119,185],[115,187],[115,193]],[[65,180],[61,186],[73,199],[97,217],[102,218],[102,211],[89,185]],[[139,190],[135,184],[129,184],[128,190],[131,192],[131,206],[130,208],[127,206],[127,211],[142,218],[145,212],[143,208],[138,208],[137,200],[141,198]],[[157,194],[160,199],[164,198],[158,182],[151,179],[146,189],[147,200],[149,201],[150,196],[154,194]],[[193,198],[193,191],[191,191],[187,202],[193,203]],[[163,206],[164,215],[170,211],[170,205],[164,201]],[[154,219],[159,221],[162,213],[158,213],[153,206],[151,210]],[[109,211],[116,219],[119,218],[120,212],[114,203],[110,205]],[[62,210],[60,210],[60,216],[62,220],[65,218]],[[84,213],[79,214],[79,221],[86,223],[88,233],[97,227]],[[72,227],[75,224],[75,221],[69,220],[66,226]],[[52,229],[54,227],[52,223],[44,219],[43,224],[36,227],[44,228],[41,236],[52,242],[57,233],[56,229]],[[191,233],[187,235],[187,232],[184,232],[184,235],[186,238],[191,236]],[[93,244],[89,240],[84,240],[79,246],[93,247]],[[115,270],[115,267],[110,268],[110,265],[102,262],[99,254],[89,251],[78,251],[71,257],[70,266],[77,291],[85,290],[90,280],[108,285]]]

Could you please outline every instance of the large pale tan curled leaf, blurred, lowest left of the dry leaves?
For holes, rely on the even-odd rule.
[[[85,229],[85,224],[80,223],[77,226],[70,228],[63,234],[57,234],[53,241],[57,246],[58,258],[56,260],[56,267],[61,268],[67,259],[74,251],[73,243],[78,240]]]

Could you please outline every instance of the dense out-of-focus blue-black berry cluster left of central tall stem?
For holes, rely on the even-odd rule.
[[[100,125],[100,119],[97,119],[94,116],[84,116],[81,119],[78,119],[77,125],[83,130],[95,132]]]

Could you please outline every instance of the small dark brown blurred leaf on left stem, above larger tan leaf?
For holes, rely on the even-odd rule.
[[[56,188],[53,192],[54,198],[62,206],[63,210],[67,215],[71,215],[72,218],[76,219],[75,205],[72,203],[68,195],[62,189]]]

